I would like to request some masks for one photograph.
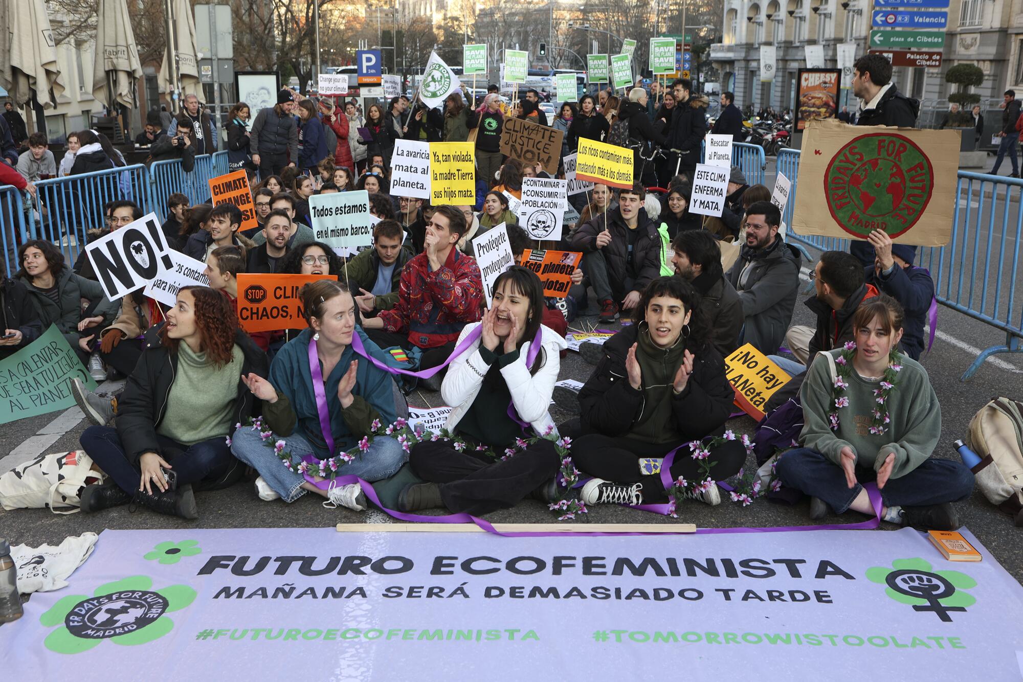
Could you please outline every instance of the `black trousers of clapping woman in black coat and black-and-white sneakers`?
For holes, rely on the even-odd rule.
[[[628,437],[612,438],[603,434],[580,436],[572,444],[572,460],[576,467],[591,476],[624,484],[642,484],[642,499],[647,503],[668,501],[661,474],[644,474],[639,470],[640,457],[664,457],[679,443],[646,443]],[[739,441],[728,441],[711,450],[707,461],[712,463],[710,478],[730,479],[746,462],[746,449]],[[671,478],[684,476],[690,483],[701,479],[700,463],[693,459],[687,447],[675,454]]]

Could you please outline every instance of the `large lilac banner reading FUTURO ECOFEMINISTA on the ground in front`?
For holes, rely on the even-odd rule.
[[[680,656],[696,680],[840,679],[864,661],[892,680],[1019,679],[1023,630],[990,626],[1023,611],[1023,588],[962,533],[982,561],[946,561],[913,529],[106,531],[71,587],[0,628],[0,650],[24,680],[79,679],[113,653],[126,670],[201,661],[208,679],[438,682],[477,662],[494,682],[591,682]]]

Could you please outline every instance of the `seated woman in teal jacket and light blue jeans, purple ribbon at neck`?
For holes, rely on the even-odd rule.
[[[265,426],[272,437],[264,440],[259,428],[242,425],[234,434],[231,452],[259,471],[256,491],[263,500],[280,497],[294,502],[309,491],[327,498],[324,506],[362,511],[366,499],[359,484],[322,490],[306,481],[297,465],[308,455],[324,460],[354,448],[372,433],[376,419],[394,422],[391,374],[352,349],[354,334],[359,334],[368,353],[376,346],[356,326],[355,301],[344,283],[324,279],[306,284],[302,308],[309,328],[277,352],[269,380],[255,374],[244,378],[263,401]],[[278,440],[284,441],[293,468],[275,453]],[[337,474],[382,481],[394,475],[406,459],[398,441],[376,436],[367,450],[341,463]]]

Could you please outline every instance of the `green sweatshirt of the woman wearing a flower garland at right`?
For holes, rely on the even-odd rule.
[[[803,381],[803,447],[840,464],[842,448],[848,446],[856,453],[857,465],[873,466],[875,470],[881,468],[889,453],[895,453],[892,479],[905,475],[931,456],[941,437],[941,406],[920,363],[898,355],[902,370],[885,405],[891,422],[884,434],[870,430],[874,420],[871,412],[877,406],[874,391],[880,388],[880,379],[865,379],[853,368],[849,388],[842,393],[849,405],[838,410],[839,426],[832,430],[828,415],[834,411],[835,384],[826,355],[834,360],[842,355],[842,349],[818,353]]]

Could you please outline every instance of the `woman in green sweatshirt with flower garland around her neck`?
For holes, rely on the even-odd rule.
[[[810,495],[810,517],[853,509],[873,514],[862,484],[876,481],[882,518],[954,531],[951,503],[973,490],[961,462],[931,457],[941,437],[941,406],[927,372],[899,352],[902,308],[887,295],[853,316],[855,343],[821,352],[800,390],[802,448],[782,455],[782,483]]]

